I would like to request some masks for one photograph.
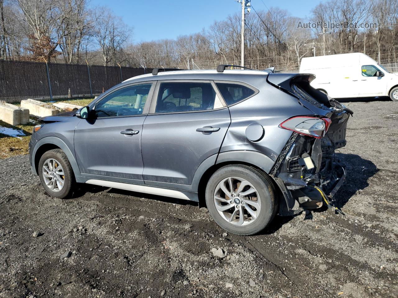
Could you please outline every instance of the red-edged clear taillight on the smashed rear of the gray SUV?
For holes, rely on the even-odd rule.
[[[279,127],[320,139],[328,131],[331,122],[329,118],[297,116],[283,121]]]

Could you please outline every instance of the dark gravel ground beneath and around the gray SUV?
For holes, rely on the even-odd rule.
[[[226,234],[186,201],[83,186],[47,196],[0,160],[0,297],[398,297],[398,102],[349,102],[331,210]]]

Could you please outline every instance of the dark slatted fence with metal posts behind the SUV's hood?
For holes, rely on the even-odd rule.
[[[152,68],[0,60],[0,101],[94,97]]]

